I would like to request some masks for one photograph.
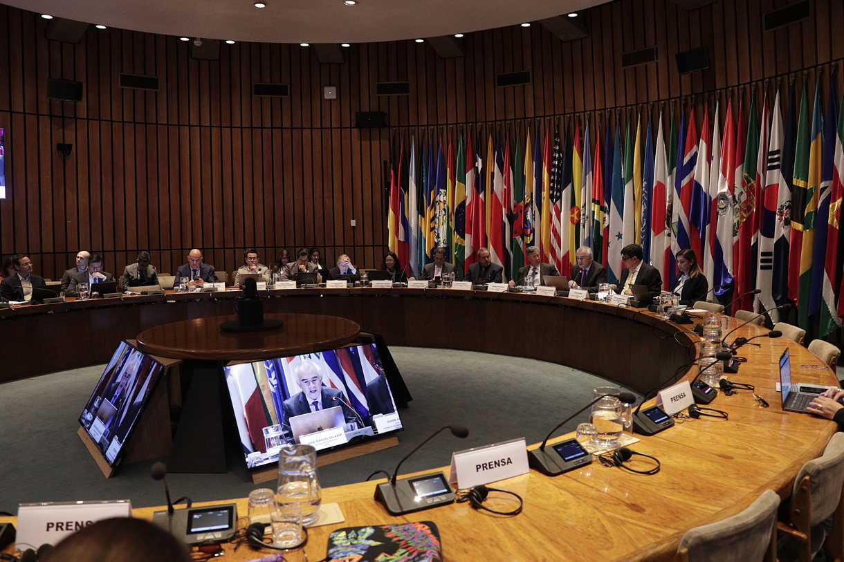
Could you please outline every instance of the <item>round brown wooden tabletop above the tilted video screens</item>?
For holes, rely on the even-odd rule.
[[[237,316],[209,316],[151,327],[138,334],[138,349],[173,359],[258,360],[334,349],[353,342],[360,324],[339,316],[266,314],[284,322],[271,330],[226,332],[220,323]]]

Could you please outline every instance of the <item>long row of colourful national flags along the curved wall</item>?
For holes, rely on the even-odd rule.
[[[798,324],[823,337],[844,317],[844,119],[835,80],[825,111],[820,90],[819,80],[810,104],[803,84],[798,105],[790,88],[784,121],[779,91],[772,107],[755,89],[749,105],[729,99],[723,121],[720,101],[707,101],[700,134],[694,106],[668,122],[633,110],[565,130],[537,120],[485,138],[482,127],[407,133],[393,140],[389,249],[412,275],[437,247],[463,272],[487,247],[513,278],[527,246],[562,275],[589,246],[615,283],[621,248],[636,243],[670,289],[674,255],[691,248],[714,297],[737,299],[733,311],[792,301]]]

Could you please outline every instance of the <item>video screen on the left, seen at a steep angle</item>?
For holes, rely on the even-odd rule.
[[[164,373],[164,365],[126,342],[117,346],[100,382],[85,404],[79,423],[116,467],[123,445]]]

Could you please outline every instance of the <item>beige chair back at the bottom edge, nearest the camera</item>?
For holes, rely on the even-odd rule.
[[[776,562],[776,508],[780,496],[766,489],[741,513],[686,531],[674,562]]]

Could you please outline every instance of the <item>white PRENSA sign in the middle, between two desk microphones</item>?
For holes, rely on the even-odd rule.
[[[452,453],[451,484],[472,488],[525,474],[527,445],[524,438]]]

